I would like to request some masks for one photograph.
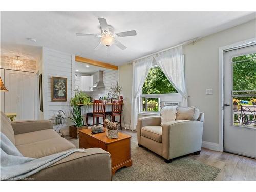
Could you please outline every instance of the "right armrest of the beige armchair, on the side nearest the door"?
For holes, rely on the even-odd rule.
[[[163,157],[173,159],[200,151],[202,147],[203,122],[178,120],[162,126]]]

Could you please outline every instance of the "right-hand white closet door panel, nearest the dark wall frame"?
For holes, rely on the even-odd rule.
[[[34,119],[34,73],[19,73],[19,114],[23,120]]]

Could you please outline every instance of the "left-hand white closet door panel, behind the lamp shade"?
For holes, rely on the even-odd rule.
[[[19,113],[19,71],[5,70],[5,113],[17,113],[16,120],[20,119]]]

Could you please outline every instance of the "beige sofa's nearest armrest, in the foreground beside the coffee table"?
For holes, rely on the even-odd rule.
[[[29,178],[35,181],[111,181],[111,157],[101,148],[75,152]]]

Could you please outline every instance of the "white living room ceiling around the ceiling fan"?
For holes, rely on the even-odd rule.
[[[115,32],[136,30],[137,36],[120,37],[119,41],[127,49],[120,50],[113,45],[107,57],[106,48],[93,49],[99,38],[75,35],[100,33],[98,17],[106,18],[108,24],[115,27]],[[122,65],[252,19],[255,19],[255,12],[1,12],[1,48],[4,54],[13,52],[16,45],[46,46]],[[28,37],[37,42],[28,41]],[[27,55],[38,57],[40,48],[31,48],[27,49]]]

